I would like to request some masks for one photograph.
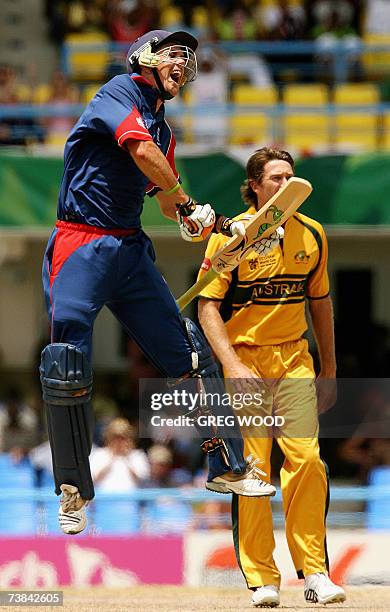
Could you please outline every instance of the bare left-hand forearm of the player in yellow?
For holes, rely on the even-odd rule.
[[[199,322],[207,340],[220,361],[225,378],[256,378],[256,375],[240,361],[219,313],[221,302],[200,298],[198,303]]]

